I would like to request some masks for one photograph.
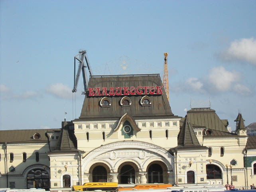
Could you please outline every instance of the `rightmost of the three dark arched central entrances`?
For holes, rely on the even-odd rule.
[[[163,183],[163,168],[159,164],[152,164],[148,168],[148,183]]]

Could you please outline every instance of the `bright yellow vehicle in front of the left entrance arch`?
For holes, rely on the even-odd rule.
[[[117,182],[90,182],[83,185],[72,186],[73,191],[116,191],[118,188]]]

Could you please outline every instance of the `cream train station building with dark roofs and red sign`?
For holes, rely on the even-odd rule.
[[[61,129],[0,131],[0,186],[248,186],[256,136],[246,134],[242,114],[234,120],[230,133],[211,108],[173,114],[159,74],[91,76],[78,119]]]

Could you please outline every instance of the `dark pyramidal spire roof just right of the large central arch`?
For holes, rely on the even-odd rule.
[[[184,147],[201,146],[187,116],[185,116],[183,126],[178,135],[178,145]]]

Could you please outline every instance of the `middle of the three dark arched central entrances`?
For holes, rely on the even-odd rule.
[[[135,169],[132,165],[124,165],[120,169],[120,184],[135,183]]]

